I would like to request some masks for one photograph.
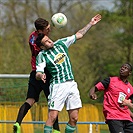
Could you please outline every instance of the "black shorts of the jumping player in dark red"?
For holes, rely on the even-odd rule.
[[[36,71],[32,71],[30,73],[29,77],[29,83],[28,83],[28,92],[27,92],[27,98],[34,98],[35,102],[39,101],[39,95],[40,92],[43,90],[46,98],[48,99],[49,95],[49,78],[50,75],[46,72],[46,83],[44,83],[42,80],[36,80]]]

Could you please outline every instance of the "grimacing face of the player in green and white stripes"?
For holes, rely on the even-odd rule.
[[[44,49],[50,49],[54,46],[54,42],[48,37],[48,36],[44,36],[41,43],[44,45]]]

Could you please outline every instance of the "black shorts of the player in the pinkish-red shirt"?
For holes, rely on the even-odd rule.
[[[110,133],[133,133],[133,122],[128,120],[108,120]]]

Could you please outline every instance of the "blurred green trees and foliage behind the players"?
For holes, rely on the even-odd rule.
[[[52,27],[50,36],[53,40],[76,33],[94,15],[102,15],[102,20],[69,49],[82,101],[92,102],[88,98],[88,91],[96,82],[118,75],[119,67],[125,62],[133,64],[133,1],[111,0],[109,3],[106,0],[1,0],[1,74],[30,73],[28,37],[35,30],[34,21],[43,17],[50,22],[51,16],[56,12],[63,12],[68,18],[68,24],[63,29]],[[133,83],[133,76],[130,81]],[[13,83],[14,88],[16,81],[11,81]],[[28,81],[21,83],[25,86]],[[9,86],[11,85],[8,82],[1,80],[0,89]],[[23,90],[26,94],[27,87]],[[22,89],[18,87],[17,93],[21,92]],[[4,94],[0,93],[1,97]],[[6,97],[9,97],[7,95],[8,93]],[[100,98],[96,102],[102,102],[102,95],[99,94]]]

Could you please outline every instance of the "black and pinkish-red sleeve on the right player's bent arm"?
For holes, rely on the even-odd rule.
[[[102,91],[102,90],[105,90],[105,89],[108,88],[109,83],[110,83],[110,78],[106,78],[106,79],[102,80],[101,82],[97,83],[97,84],[95,85],[95,87],[96,87],[99,91]]]

